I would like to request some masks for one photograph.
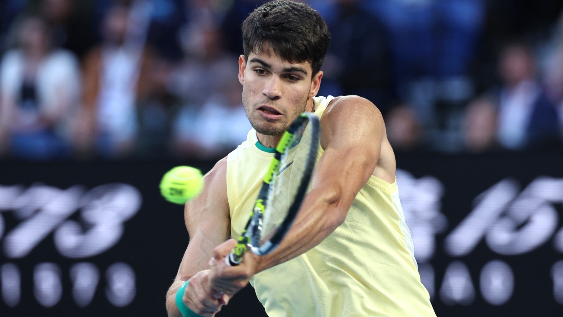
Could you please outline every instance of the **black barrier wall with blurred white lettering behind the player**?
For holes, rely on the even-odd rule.
[[[401,204],[437,315],[561,315],[561,162],[397,157]],[[173,166],[0,162],[0,315],[166,315],[189,240],[183,208],[158,191]],[[252,288],[218,314],[261,315]]]

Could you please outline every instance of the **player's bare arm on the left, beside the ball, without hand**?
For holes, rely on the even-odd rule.
[[[175,303],[178,288],[194,275],[209,269],[213,248],[229,239],[230,217],[227,202],[226,158],[217,162],[204,177],[202,193],[186,203],[184,218],[190,242],[176,278],[166,294],[168,316],[182,316]],[[191,280],[190,285],[191,286]],[[215,301],[216,299],[209,299]]]

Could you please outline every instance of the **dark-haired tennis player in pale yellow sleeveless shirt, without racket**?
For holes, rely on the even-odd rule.
[[[244,21],[239,81],[253,129],[186,204],[190,242],[167,293],[169,316],[213,316],[248,282],[271,317],[435,316],[381,113],[358,96],[316,97],[329,37],[302,3],[269,2]],[[227,266],[274,148],[303,111],[317,114],[322,128],[311,190],[274,252],[248,252]]]

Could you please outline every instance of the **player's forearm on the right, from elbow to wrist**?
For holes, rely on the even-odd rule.
[[[282,243],[274,252],[260,258],[257,272],[300,256],[333,233],[346,216],[339,198],[338,193],[311,190]]]

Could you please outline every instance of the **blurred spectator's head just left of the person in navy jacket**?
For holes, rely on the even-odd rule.
[[[496,104],[487,97],[472,100],[465,111],[462,129],[463,142],[470,153],[497,149]]]

